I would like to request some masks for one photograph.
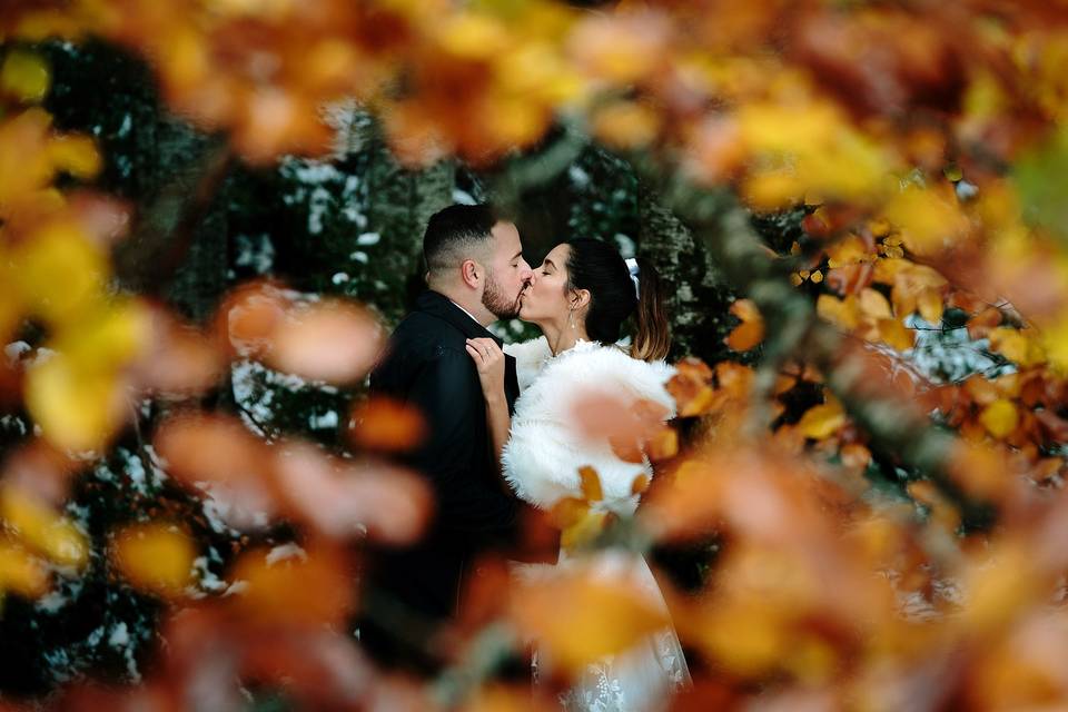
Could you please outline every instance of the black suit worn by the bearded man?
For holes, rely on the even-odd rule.
[[[398,615],[414,613],[432,624],[455,613],[474,556],[514,537],[520,508],[494,462],[485,398],[465,348],[467,338],[477,337],[501,344],[448,298],[426,291],[393,333],[386,357],[370,376],[372,393],[423,413],[427,437],[405,464],[426,477],[436,512],[418,544],[377,553],[367,572],[367,593]],[[506,356],[510,412],[518,393],[515,359]],[[413,632],[399,627],[399,620],[388,624],[365,619],[360,637],[383,662],[404,662],[396,657],[417,653],[412,645],[398,646],[398,640]]]

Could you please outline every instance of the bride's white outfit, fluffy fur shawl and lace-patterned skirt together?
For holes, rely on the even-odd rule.
[[[540,508],[563,497],[581,496],[578,468],[592,466],[601,477],[603,500],[596,506],[616,514],[634,514],[640,495],[632,494],[637,475],[652,475],[649,463],[620,459],[607,442],[592,444],[574,426],[577,398],[590,392],[636,402],[650,399],[674,414],[664,388],[673,369],[663,362],[631,358],[616,346],[578,342],[553,356],[545,337],[508,345],[516,358],[520,399],[502,456],[504,475],[516,495]],[[571,563],[561,552],[557,566]],[[663,594],[644,557],[633,552],[599,552],[599,575],[624,578],[666,613]],[[537,668],[551,665],[547,651],[535,653]],[[560,703],[568,712],[655,712],[669,706],[673,693],[691,684],[679,636],[672,627],[659,631],[626,651],[590,664]]]

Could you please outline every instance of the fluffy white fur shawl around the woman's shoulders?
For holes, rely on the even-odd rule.
[[[578,398],[605,393],[637,402],[650,399],[674,415],[674,400],[664,388],[674,369],[664,362],[631,358],[617,346],[580,342],[553,356],[545,337],[505,346],[516,358],[521,395],[502,456],[504,475],[516,495],[540,508],[563,497],[581,496],[578,468],[590,465],[601,476],[601,506],[633,514],[634,478],[651,475],[647,463],[627,463],[609,443],[591,443],[577,434],[574,408]]]

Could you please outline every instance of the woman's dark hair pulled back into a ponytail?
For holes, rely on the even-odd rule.
[[[639,259],[639,297],[623,256],[602,240],[568,240],[568,289],[590,291],[586,333],[595,342],[614,344],[629,316],[634,315],[635,333],[631,356],[655,360],[668,355],[671,337],[660,275],[647,259]]]

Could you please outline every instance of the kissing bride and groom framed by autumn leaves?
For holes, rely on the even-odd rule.
[[[550,510],[582,497],[580,468],[592,467],[603,497],[594,506],[623,516],[639,504],[634,482],[652,477],[647,459],[625,462],[607,438],[576,427],[589,393],[627,404],[653,402],[665,417],[673,369],[660,279],[646,261],[624,260],[612,245],[570,239],[532,269],[516,226],[485,205],[453,205],[431,217],[423,239],[426,281],[416,308],[397,326],[372,373],[372,392],[417,408],[423,443],[406,464],[435,496],[427,535],[382,551],[365,575],[365,603],[397,615],[367,616],[362,644],[380,662],[426,671],[427,645],[456,613],[479,554],[511,543],[524,506]],[[624,323],[636,326],[619,344]],[[542,336],[503,346],[486,327],[518,317]],[[612,414],[605,414],[611,416]],[[646,479],[647,482],[647,479]],[[560,553],[557,566],[577,554]],[[622,567],[664,611],[639,554],[607,552],[600,566]],[[666,612],[666,611],[665,611]],[[535,642],[535,679],[552,670]],[[566,710],[656,710],[690,682],[671,627],[617,655],[591,663],[561,696]]]

